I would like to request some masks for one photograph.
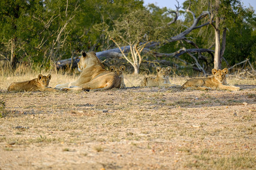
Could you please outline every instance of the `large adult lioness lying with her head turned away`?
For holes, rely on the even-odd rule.
[[[95,52],[85,53],[82,51],[78,67],[82,70],[82,73],[75,82],[58,84],[56,88],[65,91],[81,91],[106,90],[121,86],[121,78],[117,74],[104,69]]]

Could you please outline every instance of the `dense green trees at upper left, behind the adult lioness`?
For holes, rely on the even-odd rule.
[[[3,0],[0,3],[1,59],[10,59],[10,40],[14,40],[18,62],[48,67],[52,61],[70,58],[82,49],[109,48],[104,33],[96,31],[93,25],[105,22],[111,27],[114,19],[131,8],[143,8],[143,2]]]

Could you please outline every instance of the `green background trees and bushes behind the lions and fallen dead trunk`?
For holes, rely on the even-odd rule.
[[[188,3],[189,1],[185,1],[181,6],[187,8]],[[235,10],[230,12],[225,8],[225,3],[233,5],[233,1],[221,1],[222,5],[218,16],[224,18],[223,20],[229,18],[228,22],[230,20],[234,22],[231,22],[232,24],[220,23],[228,30],[226,32],[225,60],[222,61],[222,66],[232,66],[246,58],[249,58],[255,66],[255,12],[253,8],[242,7],[239,3],[234,3],[232,9]],[[190,9],[195,12],[196,16],[207,8],[209,8],[207,0],[191,1]],[[150,15],[148,18],[152,24],[149,27],[150,30],[146,31],[152,39],[143,39],[142,37],[141,41],[159,42],[159,45],[151,48],[152,51],[167,54],[183,48],[195,48],[183,40],[166,41],[183,32],[193,23],[192,15],[181,8],[179,10],[181,17],[175,23],[168,25],[175,18],[175,14],[170,11],[176,9],[159,8],[153,4],[144,7],[143,1],[140,0],[3,0],[0,3],[0,27],[2,28],[0,30],[0,59],[7,61],[7,65],[13,69],[17,63],[21,62],[27,63],[32,69],[42,67],[53,69],[56,61],[80,56],[81,50],[101,52],[117,48],[109,33],[116,31],[117,24],[125,24],[124,21],[127,19],[124,17],[125,15],[139,10]],[[138,22],[142,22],[141,24],[146,22],[141,17],[136,19]],[[206,16],[200,20],[200,23],[208,21],[209,16]],[[107,25],[108,30],[98,29],[99,25]],[[105,27],[102,26],[102,28]],[[214,29],[209,24],[194,29],[187,35],[187,39],[195,42],[198,48],[214,50]],[[118,42],[121,46],[127,45],[125,40]],[[210,54],[197,55],[199,63],[205,70],[212,69],[213,57]],[[126,56],[129,57],[132,54],[128,53]],[[193,63],[193,58],[188,54],[183,54],[179,58]],[[150,61],[157,63],[159,60],[167,61],[167,64],[171,66],[180,66],[179,69],[193,67],[193,65],[188,66],[185,62],[180,62],[179,59],[170,56],[158,57],[154,53],[142,53],[142,65],[143,63],[148,65]],[[128,61],[122,62],[130,65]],[[144,71],[143,66],[141,70]],[[148,71],[151,72],[151,70]]]

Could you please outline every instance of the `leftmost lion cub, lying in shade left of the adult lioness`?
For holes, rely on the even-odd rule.
[[[24,82],[11,83],[7,88],[8,91],[57,91],[54,88],[47,87],[49,80],[52,78],[51,74],[47,76],[39,74],[38,78],[27,80]]]

